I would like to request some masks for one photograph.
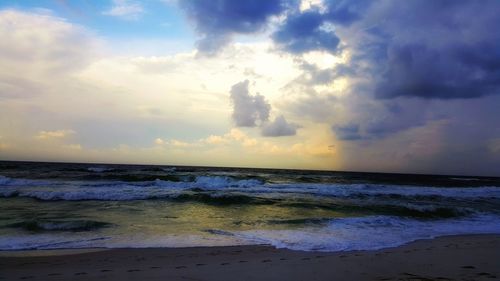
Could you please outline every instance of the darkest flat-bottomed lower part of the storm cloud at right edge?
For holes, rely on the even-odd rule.
[[[497,45],[496,52],[468,44],[442,50],[425,45],[391,46],[376,96],[450,99],[498,94],[500,44]]]

